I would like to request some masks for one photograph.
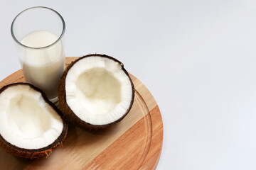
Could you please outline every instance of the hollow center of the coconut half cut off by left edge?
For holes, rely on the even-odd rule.
[[[22,137],[40,137],[50,129],[50,115],[31,96],[11,98],[6,115],[11,130]]]

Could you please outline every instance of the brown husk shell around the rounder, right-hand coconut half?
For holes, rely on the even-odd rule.
[[[134,103],[134,84],[132,82],[131,77],[129,77],[129,80],[131,82],[131,86],[132,86],[132,101],[129,105],[129,108],[127,109],[126,113],[124,113],[124,115],[119,118],[118,120],[106,124],[106,125],[92,125],[90,123],[85,122],[84,120],[81,120],[80,118],[78,118],[77,115],[75,115],[75,113],[73,113],[72,109],[68,106],[68,103],[66,101],[66,91],[65,91],[65,79],[67,77],[68,71],[70,70],[71,67],[73,67],[73,65],[82,60],[85,59],[86,57],[105,57],[108,58],[110,60],[114,60],[114,62],[117,62],[121,65],[122,70],[124,71],[125,74],[127,74],[127,77],[129,77],[128,72],[126,71],[126,69],[124,69],[124,64],[122,64],[122,62],[119,62],[119,60],[107,56],[107,55],[99,55],[99,54],[92,54],[92,55],[85,55],[83,57],[78,58],[77,60],[75,60],[74,62],[72,62],[66,69],[65,72],[63,72],[62,77],[60,78],[59,84],[58,84],[58,101],[60,103],[60,109],[61,111],[64,113],[64,117],[66,120],[68,120],[70,123],[73,123],[75,125],[80,126],[81,128],[87,128],[90,130],[98,130],[98,129],[102,129],[102,128],[107,128],[110,127],[111,125],[114,125],[116,123],[118,123],[119,121],[121,121],[131,110],[132,108],[132,104]]]

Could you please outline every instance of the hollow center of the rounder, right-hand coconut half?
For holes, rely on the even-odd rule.
[[[92,114],[105,114],[121,101],[121,84],[106,69],[90,69],[82,73],[75,84],[77,98]]]

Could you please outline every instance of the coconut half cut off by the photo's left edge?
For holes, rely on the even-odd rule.
[[[18,157],[46,156],[62,145],[68,125],[46,94],[26,83],[0,89],[0,145]]]

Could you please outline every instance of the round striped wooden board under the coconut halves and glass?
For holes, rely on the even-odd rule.
[[[66,65],[78,57],[66,57]],[[154,97],[136,77],[132,110],[120,123],[105,130],[83,130],[69,125],[63,147],[48,158],[21,159],[0,149],[1,169],[156,169],[163,142],[163,122]],[[24,82],[18,70],[0,87]]]

